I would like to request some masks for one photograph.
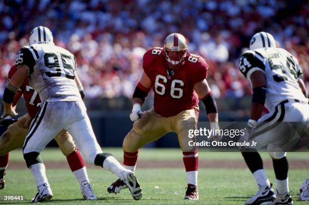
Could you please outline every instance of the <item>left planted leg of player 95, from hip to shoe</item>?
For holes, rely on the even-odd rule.
[[[45,201],[53,197],[53,192],[47,181],[45,166],[39,157],[39,153],[45,148],[61,130],[65,123],[60,106],[64,104],[44,102],[36,120],[30,126],[23,145],[23,154],[27,167],[35,178],[38,192],[32,202]]]

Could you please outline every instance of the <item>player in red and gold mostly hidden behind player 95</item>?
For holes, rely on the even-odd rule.
[[[16,65],[14,65],[9,71],[9,80],[16,71],[17,68]],[[8,130],[0,136],[0,189],[5,187],[4,172],[9,163],[9,152],[23,146],[25,137],[29,131],[30,122],[39,111],[37,104],[41,103],[37,91],[29,85],[28,77],[16,92],[13,107],[17,105],[22,95],[26,101],[27,114],[10,125]],[[83,96],[82,91],[81,95]],[[14,115],[17,114],[15,113],[13,116]],[[87,200],[96,199],[88,179],[85,162],[79,150],[76,148],[72,136],[67,131],[62,130],[55,137],[55,140],[62,153],[66,156],[69,166],[81,186],[83,197]]]

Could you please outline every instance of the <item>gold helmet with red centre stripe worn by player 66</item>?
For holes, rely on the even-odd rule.
[[[188,53],[186,38],[179,33],[172,33],[164,41],[164,53],[167,66],[176,69],[185,63]]]

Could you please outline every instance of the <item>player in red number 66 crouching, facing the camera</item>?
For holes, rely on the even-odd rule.
[[[183,35],[172,33],[165,39],[164,48],[155,47],[144,54],[143,70],[133,94],[130,119],[134,124],[123,141],[123,164],[134,171],[139,148],[168,132],[176,132],[188,183],[185,199],[197,200],[198,156],[196,147],[188,146],[192,140],[188,130],[196,128],[199,99],[211,126],[218,129],[216,101],[206,80],[208,64],[188,52]],[[155,92],[153,108],[142,112],[141,105],[151,88]],[[123,188],[126,185],[118,179],[108,191],[118,193]]]

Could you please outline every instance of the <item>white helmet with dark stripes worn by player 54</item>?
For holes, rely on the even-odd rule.
[[[276,41],[270,33],[259,32],[252,36],[250,40],[250,50],[262,47],[276,47]]]

